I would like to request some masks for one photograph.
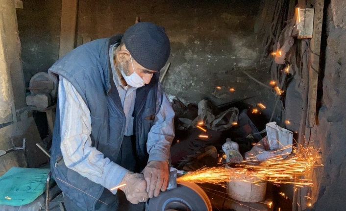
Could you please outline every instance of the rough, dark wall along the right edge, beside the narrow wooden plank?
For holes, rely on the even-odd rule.
[[[314,172],[316,211],[344,211],[346,205],[346,21],[343,18],[346,4],[343,0],[331,2],[333,7],[329,5],[325,20],[327,47],[322,106],[319,125],[312,130],[311,139],[321,147],[324,164]]]

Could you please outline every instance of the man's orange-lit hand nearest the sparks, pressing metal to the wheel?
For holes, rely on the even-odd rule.
[[[147,192],[149,198],[157,197],[161,191],[167,189],[168,164],[167,161],[150,161],[143,170],[147,181]]]

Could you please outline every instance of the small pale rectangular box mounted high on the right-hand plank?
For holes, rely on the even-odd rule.
[[[298,39],[312,38],[314,29],[314,8],[296,8]]]

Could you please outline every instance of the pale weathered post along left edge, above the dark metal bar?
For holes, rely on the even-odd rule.
[[[26,107],[14,0],[0,0],[0,124],[17,121],[16,110]]]

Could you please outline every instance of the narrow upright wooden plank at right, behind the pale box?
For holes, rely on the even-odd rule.
[[[309,66],[309,93],[308,93],[308,119],[307,127],[312,128],[316,124],[317,86],[319,77],[321,35],[323,23],[324,0],[314,1],[314,31],[310,41],[310,66]]]

